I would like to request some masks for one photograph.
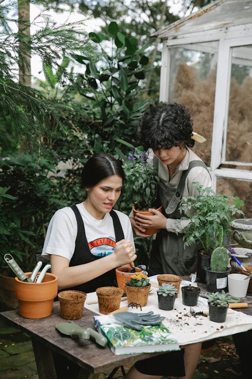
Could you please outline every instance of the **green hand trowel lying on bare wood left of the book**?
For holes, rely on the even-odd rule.
[[[83,328],[73,321],[59,322],[55,327],[60,333],[72,337],[73,340],[79,340],[80,343],[92,338],[100,346],[105,347],[107,345],[107,339],[91,327]]]

